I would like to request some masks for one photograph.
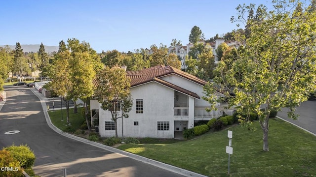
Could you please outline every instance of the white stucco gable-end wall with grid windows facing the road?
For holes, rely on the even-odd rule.
[[[124,137],[174,138],[174,90],[156,82],[130,89],[133,99],[129,118],[123,119]],[[143,114],[136,114],[136,99],[143,99]],[[111,121],[111,113],[99,109],[101,137],[115,136],[115,130],[105,130],[105,121]],[[121,119],[118,119],[118,136],[122,136]],[[134,125],[138,121],[138,125]],[[158,121],[169,121],[169,130],[157,130]]]

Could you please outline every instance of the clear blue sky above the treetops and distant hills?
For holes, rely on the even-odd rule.
[[[0,45],[58,46],[61,40],[89,42],[98,53],[133,52],[171,40],[189,43],[199,27],[206,39],[237,29],[238,4],[270,0],[3,0]]]

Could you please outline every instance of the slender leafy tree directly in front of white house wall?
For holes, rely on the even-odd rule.
[[[115,122],[115,136],[118,137],[118,118],[128,118],[132,107],[132,98],[129,91],[130,80],[126,77],[124,69],[106,66],[97,74],[98,84],[95,96],[101,103],[103,110],[111,112]]]

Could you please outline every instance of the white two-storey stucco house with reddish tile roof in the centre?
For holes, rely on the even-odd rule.
[[[206,82],[169,65],[126,71],[126,75],[131,78],[133,106],[128,118],[118,119],[119,137],[122,137],[123,127],[124,137],[174,138],[176,131],[193,128],[197,120],[209,120],[224,112],[228,115],[234,112],[206,112],[209,103],[202,99],[202,87]],[[218,96],[221,94],[218,93]],[[91,122],[99,118],[101,137],[115,136],[116,127],[110,111],[101,109],[96,100],[91,100],[90,109],[96,113]]]

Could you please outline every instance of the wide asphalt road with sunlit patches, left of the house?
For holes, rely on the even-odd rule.
[[[181,177],[126,156],[64,137],[49,128],[39,98],[25,86],[5,87],[0,111],[0,148],[27,144],[35,153],[41,177]],[[19,130],[16,134],[4,134]],[[161,154],[163,155],[163,154]]]

